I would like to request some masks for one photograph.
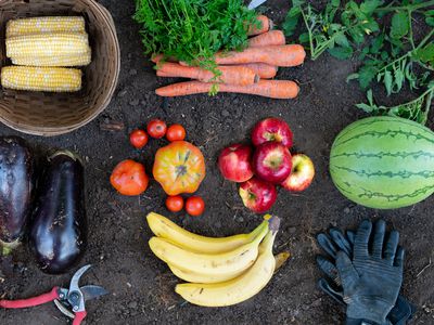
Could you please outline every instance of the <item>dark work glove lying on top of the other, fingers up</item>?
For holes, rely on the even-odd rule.
[[[366,320],[374,324],[386,324],[386,316],[395,306],[403,282],[404,250],[397,247],[397,232],[391,232],[384,244],[385,222],[381,220],[375,225],[372,251],[369,252],[371,230],[370,221],[361,222],[354,239],[353,261],[348,257],[352,252],[350,245],[347,245],[349,242],[345,240],[339,247],[343,250],[336,253],[336,268],[330,263],[327,274],[337,285],[342,284],[344,295],[326,285],[323,280],[320,281],[320,287],[330,288],[329,292],[336,300],[343,297],[347,303],[349,322],[360,323]],[[327,266],[323,265],[321,270],[324,269]]]

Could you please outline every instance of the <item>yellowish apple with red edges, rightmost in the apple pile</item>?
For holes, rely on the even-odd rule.
[[[302,192],[306,190],[315,176],[314,162],[303,154],[292,156],[292,172],[282,182],[282,186],[292,192]]]

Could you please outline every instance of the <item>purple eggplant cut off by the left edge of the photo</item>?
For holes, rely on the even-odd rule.
[[[18,136],[0,138],[0,246],[3,253],[20,244],[31,212],[35,161]]]

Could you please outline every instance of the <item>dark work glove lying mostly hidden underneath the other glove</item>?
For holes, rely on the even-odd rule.
[[[318,286],[321,290],[332,297],[342,306],[344,302],[344,292],[342,289],[341,278],[335,266],[336,253],[339,250],[353,258],[353,246],[356,234],[353,231],[347,231],[346,235],[336,227],[329,231],[329,234],[320,233],[317,235],[318,245],[326,252],[326,257],[318,256],[318,268],[326,274],[328,280],[320,278]],[[394,325],[405,325],[416,313],[416,306],[410,303],[403,296],[398,296],[396,303],[387,315],[387,320]]]

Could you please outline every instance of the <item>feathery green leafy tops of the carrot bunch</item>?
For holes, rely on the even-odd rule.
[[[133,17],[145,54],[163,53],[215,73],[215,53],[244,49],[256,22],[242,0],[136,0]]]

